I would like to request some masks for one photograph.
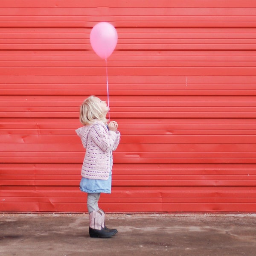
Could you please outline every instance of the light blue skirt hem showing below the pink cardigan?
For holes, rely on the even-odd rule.
[[[108,180],[92,180],[82,177],[80,190],[86,193],[107,193],[111,194],[112,172],[110,171]]]

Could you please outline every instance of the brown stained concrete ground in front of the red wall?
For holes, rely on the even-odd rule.
[[[256,256],[256,214],[108,214],[109,239],[88,217],[1,213],[0,256]]]

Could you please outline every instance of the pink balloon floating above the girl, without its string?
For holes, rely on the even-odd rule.
[[[108,22],[96,24],[90,32],[90,44],[100,58],[107,59],[116,48],[116,43],[116,29]]]

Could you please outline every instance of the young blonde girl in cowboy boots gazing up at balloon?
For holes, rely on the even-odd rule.
[[[112,151],[119,144],[120,133],[115,121],[107,125],[108,106],[105,101],[90,96],[80,107],[80,122],[76,130],[86,148],[81,170],[80,189],[87,192],[87,209],[90,217],[90,237],[108,238],[116,229],[105,226],[105,213],[99,209],[100,193],[111,193]]]

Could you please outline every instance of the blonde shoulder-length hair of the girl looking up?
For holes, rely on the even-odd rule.
[[[83,125],[91,125],[96,121],[107,123],[107,119],[102,113],[99,103],[95,100],[95,96],[92,95],[84,100],[80,107],[79,120]]]

